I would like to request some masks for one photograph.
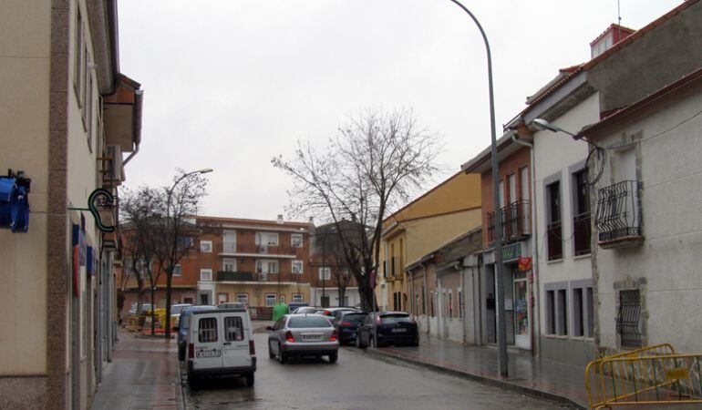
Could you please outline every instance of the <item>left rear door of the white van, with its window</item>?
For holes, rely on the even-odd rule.
[[[197,321],[196,325],[195,322]],[[210,369],[222,367],[222,335],[218,314],[193,314],[191,329],[195,344],[195,358],[192,362],[194,369]]]

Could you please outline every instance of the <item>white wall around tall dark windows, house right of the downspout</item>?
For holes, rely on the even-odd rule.
[[[598,95],[587,97],[563,114],[560,118],[552,121],[552,124],[566,129],[570,132],[577,132],[586,125],[599,121],[599,101]],[[569,167],[587,158],[588,147],[584,141],[576,141],[563,132],[554,133],[542,130],[534,133],[534,167],[535,184],[534,198],[536,202],[537,226],[536,235],[538,237],[538,280],[540,297],[540,326],[541,332],[546,332],[545,323],[545,297],[544,283],[575,281],[592,278],[592,266],[589,256],[573,258],[573,208],[572,190],[573,181],[569,172]],[[561,210],[563,223],[563,260],[548,261],[548,241],[546,235],[546,203],[544,197],[544,179],[550,178],[554,174],[561,176]],[[570,295],[569,295],[570,297]],[[569,312],[569,314],[572,314]],[[570,320],[568,323],[573,323]]]

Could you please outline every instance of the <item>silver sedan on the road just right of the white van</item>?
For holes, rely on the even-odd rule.
[[[281,364],[290,356],[329,356],[330,363],[338,359],[338,333],[321,314],[286,314],[266,329],[268,357],[278,357]]]

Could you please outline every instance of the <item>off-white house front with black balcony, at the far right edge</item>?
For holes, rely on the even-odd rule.
[[[595,341],[605,352],[696,337],[702,221],[702,69],[585,128],[606,155],[596,164],[593,277]]]

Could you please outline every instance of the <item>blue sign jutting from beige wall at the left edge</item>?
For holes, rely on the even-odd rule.
[[[13,232],[26,232],[29,228],[29,180],[0,177],[0,228]]]

